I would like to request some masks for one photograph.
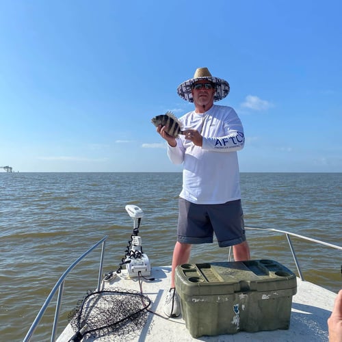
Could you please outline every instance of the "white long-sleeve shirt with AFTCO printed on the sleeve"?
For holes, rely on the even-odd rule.
[[[241,198],[237,150],[244,148],[244,129],[235,110],[213,105],[205,114],[190,111],[179,119],[183,130],[202,130],[202,147],[184,135],[176,146],[168,145],[168,157],[183,165],[183,189],[179,195],[198,204],[220,204]]]

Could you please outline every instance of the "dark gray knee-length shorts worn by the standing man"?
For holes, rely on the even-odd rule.
[[[179,198],[177,241],[183,244],[213,242],[213,233],[220,247],[246,241],[241,200],[222,205],[196,205]]]

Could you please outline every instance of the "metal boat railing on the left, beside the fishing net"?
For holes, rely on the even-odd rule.
[[[85,257],[87,257],[90,252],[92,252],[94,249],[96,249],[99,245],[102,244],[102,249],[101,249],[101,259],[100,259],[100,265],[98,268],[98,282],[97,282],[97,288],[100,289],[101,287],[101,281],[103,277],[103,258],[105,256],[105,241],[107,240],[107,235],[104,236],[100,241],[98,241],[92,248],[87,250],[87,252],[83,253],[81,257],[76,259],[69,267],[66,269],[64,274],[60,277],[59,280],[57,280],[55,286],[51,290],[49,296],[45,300],[44,304],[42,305],[42,308],[40,308],[40,311],[38,315],[36,316],[36,319],[32,323],[31,327],[29,328],[29,331],[27,332],[25,338],[23,339],[23,342],[30,341],[32,335],[34,334],[34,331],[36,330],[38,324],[40,323],[40,320],[44,316],[45,311],[47,310],[51,300],[54,298],[55,293],[58,291],[58,296],[57,296],[57,302],[56,302],[56,308],[55,308],[55,317],[53,319],[53,327],[52,327],[52,332],[51,332],[51,342],[54,342],[56,339],[56,332],[57,332],[57,326],[58,326],[58,319],[60,317],[60,308],[62,304],[62,297],[63,297],[63,291],[64,291],[64,282],[66,280],[66,277],[68,274],[75,268],[75,266],[80,263]]]

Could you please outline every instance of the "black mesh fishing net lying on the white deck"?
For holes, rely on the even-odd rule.
[[[88,291],[69,313],[70,325],[76,334],[70,341],[85,337],[96,339],[109,334],[124,337],[142,330],[148,316],[150,299],[137,291],[111,289]]]

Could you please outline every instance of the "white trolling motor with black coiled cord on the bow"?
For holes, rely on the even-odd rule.
[[[122,263],[120,263],[120,267],[116,272],[120,273],[122,265],[126,265],[127,272],[131,278],[139,275],[150,276],[150,261],[148,261],[147,255],[142,252],[142,238],[138,236],[144,212],[136,205],[127,205],[125,209],[129,216],[133,218],[133,233],[129,246],[127,246],[126,258],[122,259]]]

